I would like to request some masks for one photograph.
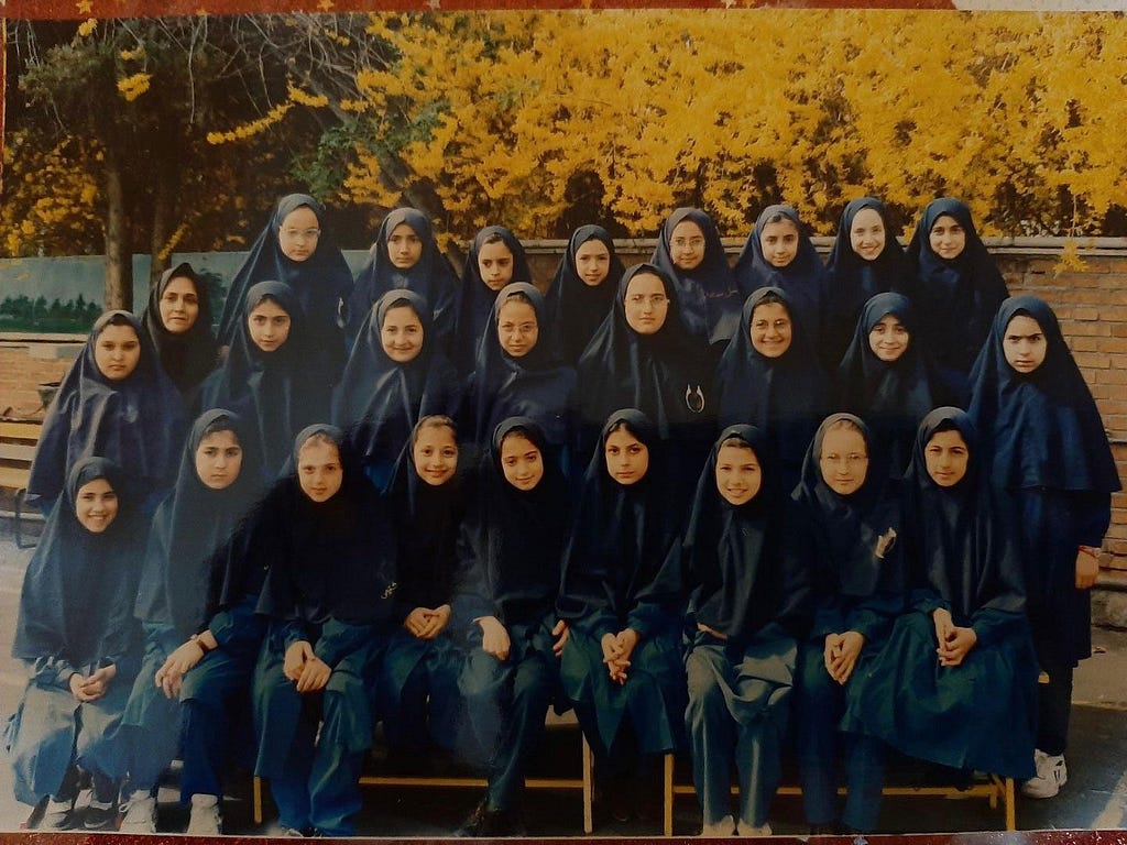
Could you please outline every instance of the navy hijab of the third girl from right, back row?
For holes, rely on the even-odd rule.
[[[790,221],[798,230],[798,252],[786,267],[775,267],[763,256],[760,238],[767,223]],[[818,347],[822,338],[825,309],[828,302],[826,268],[810,241],[798,211],[790,205],[769,205],[755,221],[744,248],[736,259],[736,282],[742,295],[747,296],[761,287],[779,287],[787,292],[792,308],[807,336]]]

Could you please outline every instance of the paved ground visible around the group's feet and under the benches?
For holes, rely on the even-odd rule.
[[[3,531],[3,526],[0,526]],[[23,690],[19,665],[8,657],[12,629],[29,550],[17,550],[10,536],[0,534],[0,721],[12,712]],[[1097,630],[1097,653],[1082,664],[1076,677],[1075,706],[1068,753],[1068,785],[1051,801],[1020,800],[1018,826],[1037,829],[1107,829],[1127,827],[1127,632]],[[578,763],[571,731],[552,731],[545,749],[545,765],[554,771]],[[175,772],[160,794],[161,827],[183,830],[186,812],[177,803]],[[360,819],[366,836],[444,836],[456,829],[473,809],[473,790],[371,789]],[[529,798],[533,833],[573,836],[583,831],[582,802],[577,792],[533,792]],[[11,798],[11,774],[0,764],[0,831],[15,830],[26,820],[29,808]],[[269,810],[267,810],[269,817]],[[778,834],[806,831],[797,798],[775,801],[772,825]],[[983,800],[889,799],[881,817],[887,833],[996,830],[1003,820]],[[232,834],[269,833],[250,817],[249,779],[231,784],[227,829]],[[692,835],[700,829],[700,811],[691,797],[677,799],[674,831]],[[596,834],[654,836],[660,818],[624,825],[601,824]]]

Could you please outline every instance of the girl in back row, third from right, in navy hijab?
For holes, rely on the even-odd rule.
[[[829,299],[826,268],[793,206],[769,205],[763,210],[734,273],[744,296],[761,287],[783,290],[814,348],[820,348]]]

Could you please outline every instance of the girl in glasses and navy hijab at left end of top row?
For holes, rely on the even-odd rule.
[[[352,270],[326,230],[325,208],[307,194],[278,201],[223,303],[219,339],[231,345],[247,319],[247,294],[259,282],[290,286],[305,314],[309,350],[321,377],[336,382],[346,354],[340,311],[352,291]]]

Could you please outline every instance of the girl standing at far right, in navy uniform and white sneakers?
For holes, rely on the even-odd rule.
[[[969,415],[994,487],[1012,497],[1037,659],[1037,775],[1030,798],[1051,798],[1064,762],[1072,675],[1091,655],[1091,587],[1121,484],[1100,412],[1061,333],[1036,296],[1002,303],[970,374]]]

